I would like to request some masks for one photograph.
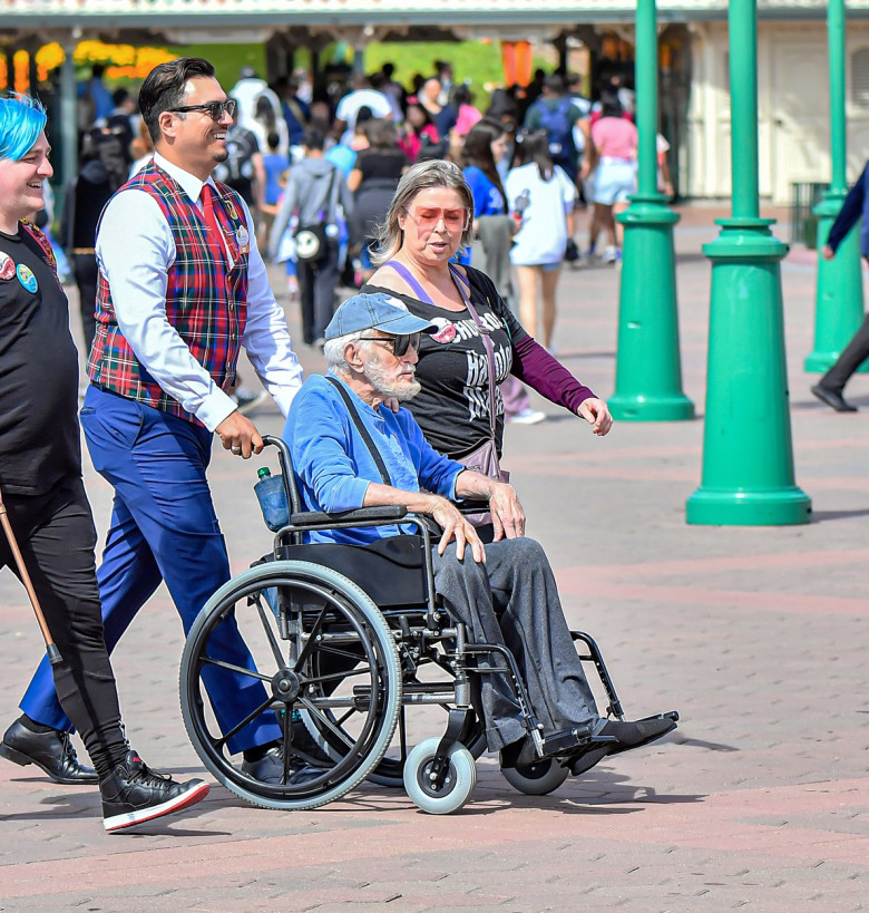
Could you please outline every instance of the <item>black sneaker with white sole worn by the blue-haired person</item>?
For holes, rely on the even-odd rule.
[[[111,834],[202,802],[208,795],[208,784],[175,783],[172,777],[150,770],[135,751],[127,751],[124,764],[100,781],[99,791],[102,826]]]

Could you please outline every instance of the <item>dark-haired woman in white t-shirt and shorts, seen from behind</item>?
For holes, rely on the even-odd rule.
[[[519,320],[537,336],[537,285],[540,284],[543,343],[551,349],[555,291],[567,239],[574,233],[576,186],[553,164],[545,130],[516,137],[517,166],[507,175],[505,191],[521,227],[514,236],[510,261],[519,279]]]

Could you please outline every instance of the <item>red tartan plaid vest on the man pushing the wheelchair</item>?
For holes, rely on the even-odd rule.
[[[175,241],[175,263],[168,272],[166,317],[193,357],[223,390],[235,385],[242,334],[247,318],[250,242],[240,246],[247,224],[240,197],[217,184],[214,212],[230,250],[208,243],[205,222],[180,186],[153,162],[118,193],[140,190],[157,201]],[[88,376],[104,390],[153,406],[201,425],[169,396],[136,358],[118,327],[111,289],[102,272],[97,286],[97,331],[88,358]]]

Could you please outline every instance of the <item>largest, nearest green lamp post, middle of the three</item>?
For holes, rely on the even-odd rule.
[[[712,261],[703,478],[687,522],[808,523],[794,484],[780,261],[788,245],[760,218],[756,0],[730,0],[732,217],[703,246]]]

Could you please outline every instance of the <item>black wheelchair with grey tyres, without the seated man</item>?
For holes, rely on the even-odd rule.
[[[272,436],[263,440],[279,450],[286,522],[275,531],[272,553],[208,600],[182,658],[182,715],[205,767],[227,789],[266,808],[315,808],[370,780],[403,786],[423,812],[449,814],[471,797],[475,761],[486,747],[471,702],[473,677],[499,671],[512,682],[538,754],[534,764],[501,773],[526,795],[558,788],[568,775],[563,756],[605,738],[583,727],[543,735],[510,651],[468,642],[465,627],[439,604],[426,518],[403,507],[303,512],[286,444]],[[416,532],[367,545],[304,542],[309,532],[397,522]],[[226,625],[241,632],[254,671],[221,658]],[[606,716],[624,720],[597,644],[580,631],[572,635],[603,686]],[[481,654],[497,655],[498,662],[477,668]],[[205,681],[219,668],[265,688],[262,706],[225,734],[205,692]],[[440,708],[446,729],[409,749],[407,710],[416,706]],[[270,709],[283,741],[280,783],[254,779],[242,756],[228,749],[235,734]],[[678,718],[675,711],[665,716]],[[305,775],[299,777],[302,765]]]

